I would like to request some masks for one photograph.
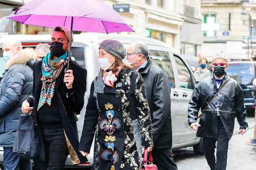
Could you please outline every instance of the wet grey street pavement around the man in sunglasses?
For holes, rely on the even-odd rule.
[[[235,120],[233,136],[229,143],[227,170],[256,170],[256,145],[246,144],[253,138],[254,117],[247,118],[248,129],[239,135],[239,124]],[[154,161],[153,161],[154,162]],[[174,153],[178,170],[210,170],[204,155],[196,155],[192,147]]]

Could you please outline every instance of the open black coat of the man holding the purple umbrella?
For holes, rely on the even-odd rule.
[[[28,102],[30,103],[30,107],[34,107],[34,119],[35,122],[38,124],[37,120],[37,108],[41,94],[41,87],[42,87],[42,60],[36,61],[34,63],[33,69],[33,91],[30,96],[27,98]],[[84,163],[87,161],[86,157],[78,151],[79,140],[77,136],[77,128],[76,128],[76,121],[78,121],[76,114],[82,110],[84,105],[84,93],[86,89],[86,74],[87,70],[81,67],[75,61],[70,62],[70,68],[73,70],[74,81],[72,84],[72,89],[68,90],[65,83],[63,82],[64,74],[65,74],[65,66],[58,78],[56,79],[56,86],[54,90],[54,95],[57,96],[58,106],[60,110],[60,116],[62,119],[62,124],[64,127],[64,133],[66,135],[66,140],[68,144],[68,151],[72,159],[73,165]],[[67,97],[67,92],[72,92],[72,96]],[[32,97],[34,97],[34,103]],[[44,144],[43,139],[40,132],[40,125],[38,125],[38,133],[40,137],[40,156],[39,160],[45,161],[45,151],[44,151]]]

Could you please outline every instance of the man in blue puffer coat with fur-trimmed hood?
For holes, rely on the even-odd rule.
[[[3,57],[7,68],[0,78],[0,147],[4,148],[5,170],[32,170],[29,159],[12,151],[22,102],[32,91],[33,48],[22,49],[20,41],[8,40],[3,44]]]

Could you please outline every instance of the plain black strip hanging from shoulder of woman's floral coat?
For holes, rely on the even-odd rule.
[[[138,118],[138,115],[136,114],[136,103],[135,103],[135,96],[134,96],[137,75],[138,75],[138,72],[134,70],[134,72],[132,73],[130,89],[128,92],[129,103],[130,103],[130,116],[132,121]]]

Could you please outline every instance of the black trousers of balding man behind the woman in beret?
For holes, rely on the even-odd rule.
[[[172,148],[153,149],[152,158],[158,170],[178,170],[173,162]]]

